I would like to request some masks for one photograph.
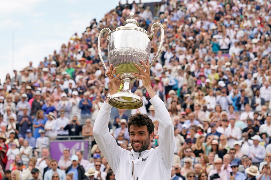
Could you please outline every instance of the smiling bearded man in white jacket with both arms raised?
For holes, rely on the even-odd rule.
[[[109,133],[108,121],[111,105],[108,98],[101,107],[96,118],[93,135],[102,154],[115,173],[118,180],[166,180],[171,177],[175,140],[173,135],[173,124],[164,102],[155,94],[151,87],[149,61],[145,64],[146,72],[138,65],[135,67],[142,73],[137,75],[143,82],[150,95],[150,102],[154,106],[155,115],[159,121],[159,146],[151,148],[151,141],[154,136],[154,125],[146,114],[135,114],[129,118],[128,132],[132,145],[132,152],[122,149],[117,145],[114,137]],[[107,72],[111,87],[110,95],[117,93],[120,88],[120,80],[114,77],[116,68],[110,65]],[[152,173],[155,172],[155,173]]]

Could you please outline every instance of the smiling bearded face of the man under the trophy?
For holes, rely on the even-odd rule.
[[[154,132],[149,135],[147,126],[130,126],[130,142],[134,152],[141,152],[151,148]]]

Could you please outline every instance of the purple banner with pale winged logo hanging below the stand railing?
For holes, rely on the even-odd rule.
[[[84,152],[84,159],[88,159],[88,141],[53,141],[50,142],[50,153],[53,159],[59,161],[63,159],[64,149],[70,149],[70,155],[75,154],[76,151]]]

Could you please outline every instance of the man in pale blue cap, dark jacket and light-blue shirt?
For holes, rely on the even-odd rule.
[[[78,162],[78,156],[72,155],[72,165],[66,169],[66,174],[73,173],[74,176],[78,177],[78,180],[86,178],[85,170]]]

